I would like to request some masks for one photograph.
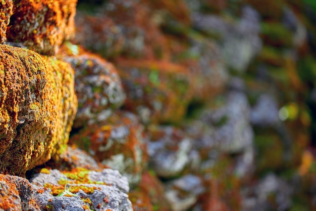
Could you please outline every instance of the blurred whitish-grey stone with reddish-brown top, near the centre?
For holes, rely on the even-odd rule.
[[[149,166],[160,177],[179,175],[189,162],[192,140],[172,126],[151,128],[148,137]]]

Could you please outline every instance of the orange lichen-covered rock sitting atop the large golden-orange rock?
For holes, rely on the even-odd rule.
[[[8,41],[30,50],[54,55],[74,32],[77,0],[14,1],[7,30]]]

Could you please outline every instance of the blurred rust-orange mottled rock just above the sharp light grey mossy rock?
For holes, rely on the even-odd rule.
[[[85,149],[102,164],[119,170],[135,185],[147,163],[143,139],[143,126],[137,116],[120,112],[105,122],[82,129],[70,138],[70,143]]]

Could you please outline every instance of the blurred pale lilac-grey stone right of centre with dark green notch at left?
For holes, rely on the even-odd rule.
[[[210,109],[202,121],[214,127],[208,144],[218,146],[227,152],[240,152],[252,146],[253,131],[250,126],[250,107],[246,96],[237,91],[227,94],[225,105]]]

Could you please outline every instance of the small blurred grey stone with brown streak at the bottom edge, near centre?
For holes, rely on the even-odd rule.
[[[173,211],[188,210],[205,191],[202,180],[194,175],[185,175],[166,185],[166,198]]]

